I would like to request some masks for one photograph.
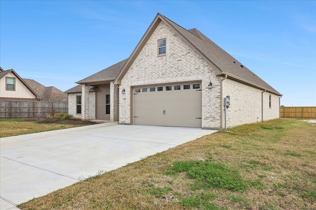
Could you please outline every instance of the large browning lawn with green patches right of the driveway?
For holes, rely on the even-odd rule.
[[[22,210],[316,209],[315,136],[316,125],[300,120],[242,125],[203,136],[18,207]],[[181,170],[179,163],[183,164]],[[213,180],[222,173],[240,176]],[[238,180],[242,187],[235,190],[234,183]],[[227,183],[233,184],[229,185],[232,187],[223,187]]]

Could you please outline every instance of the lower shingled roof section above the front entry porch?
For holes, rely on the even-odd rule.
[[[76,83],[78,84],[87,84],[87,83],[95,83],[95,82],[101,82],[101,81],[111,81],[115,80],[115,78],[118,76],[119,71],[124,66],[127,59],[122,60],[108,68],[105,68],[95,74],[92,74],[91,76],[80,80]],[[70,89],[71,90],[71,89]],[[67,90],[68,91],[68,90]]]

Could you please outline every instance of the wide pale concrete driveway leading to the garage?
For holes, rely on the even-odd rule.
[[[115,122],[0,139],[0,209],[168,150],[214,130]]]

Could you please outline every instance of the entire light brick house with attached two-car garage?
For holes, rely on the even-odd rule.
[[[279,118],[278,91],[159,13],[127,60],[77,83],[66,91],[69,113],[85,120],[221,129]]]

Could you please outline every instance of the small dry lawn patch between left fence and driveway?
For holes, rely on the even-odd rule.
[[[65,128],[83,126],[81,124],[65,123],[39,123],[37,121],[24,121],[26,119],[1,119],[0,120],[0,138],[9,136],[18,136],[30,133],[39,133],[50,130],[59,130]]]

